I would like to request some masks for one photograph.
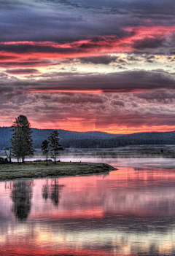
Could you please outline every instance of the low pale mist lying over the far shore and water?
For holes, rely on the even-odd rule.
[[[160,150],[163,148],[163,154]],[[63,162],[91,162],[108,163],[115,168],[133,167],[133,168],[174,168],[175,158],[172,154],[174,147],[171,145],[144,145],[128,146],[108,149],[66,149],[58,155],[57,160]],[[167,153],[170,152],[171,153]],[[166,153],[164,153],[166,152]],[[4,152],[0,155],[5,157]],[[16,159],[12,159],[16,161]],[[33,158],[26,158],[26,161],[45,160],[41,150],[36,150]]]

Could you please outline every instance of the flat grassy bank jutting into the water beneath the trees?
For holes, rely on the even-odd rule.
[[[112,171],[114,168],[106,163],[49,163],[43,162],[7,163],[0,165],[0,180],[35,178],[35,177],[59,177],[98,174]]]

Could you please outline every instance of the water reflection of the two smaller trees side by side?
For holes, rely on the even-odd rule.
[[[60,191],[64,185],[59,185],[57,179],[52,180],[51,185],[48,185],[48,180],[46,180],[46,185],[42,188],[42,197],[47,200],[49,197],[55,206],[58,206],[60,201]]]

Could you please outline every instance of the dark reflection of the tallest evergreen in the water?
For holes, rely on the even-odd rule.
[[[26,220],[31,211],[31,181],[14,182],[12,185],[12,212],[18,220]]]

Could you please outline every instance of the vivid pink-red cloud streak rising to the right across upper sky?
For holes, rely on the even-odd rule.
[[[88,56],[108,55],[111,53],[132,53],[136,49],[134,44],[144,39],[166,39],[175,32],[175,26],[129,27],[123,28],[128,35],[123,38],[117,36],[98,36],[98,39],[85,39],[68,43],[56,42],[0,42],[0,61],[12,65],[16,63],[33,63],[34,60],[58,60],[63,58],[80,58]],[[23,46],[22,53],[18,53]],[[21,49],[20,49],[21,50]],[[39,63],[38,63],[39,64]],[[15,63],[14,63],[15,65]],[[48,63],[50,65],[50,62]],[[37,66],[37,61],[36,61]]]

